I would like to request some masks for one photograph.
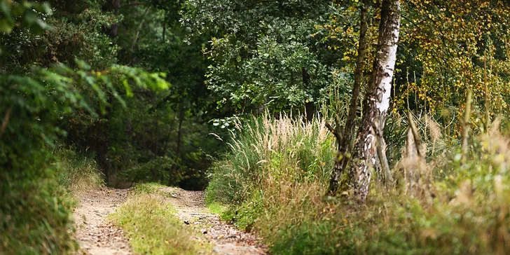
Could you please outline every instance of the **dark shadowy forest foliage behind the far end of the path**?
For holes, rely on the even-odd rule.
[[[207,37],[188,37],[179,23],[179,10],[179,1],[144,1],[123,4],[113,20],[108,20],[112,13],[104,12],[103,18],[95,18],[101,24],[117,22],[118,26],[118,36],[108,40],[116,51],[104,51],[104,55],[114,54],[120,63],[164,72],[165,80],[172,83],[165,91],[135,88],[125,95],[119,93],[127,107],[112,102],[102,118],[85,114],[65,123],[70,130],[67,141],[81,151],[94,151],[110,179],[159,181],[191,189],[206,185],[207,157],[220,150],[207,135],[206,123],[217,114],[211,107],[214,101],[204,96],[208,93],[203,84],[207,60],[200,50]],[[83,22],[78,24],[83,26]]]

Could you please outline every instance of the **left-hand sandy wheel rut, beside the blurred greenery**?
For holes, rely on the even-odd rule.
[[[102,188],[80,195],[73,213],[75,237],[80,244],[77,254],[132,254],[124,231],[107,219],[126,198],[127,189],[116,188]]]

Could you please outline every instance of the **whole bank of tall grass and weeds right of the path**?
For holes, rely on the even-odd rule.
[[[324,120],[264,116],[240,127],[214,164],[208,202],[228,205],[223,219],[258,231],[274,254],[505,254],[510,136],[502,126],[472,138],[463,164],[459,146],[429,130],[426,163],[395,162],[397,185],[373,184],[359,206],[348,192],[324,196],[335,156]],[[406,167],[427,174],[404,185]]]

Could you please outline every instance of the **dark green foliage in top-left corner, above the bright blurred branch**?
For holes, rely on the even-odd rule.
[[[64,2],[67,3],[61,1],[60,4]],[[19,5],[27,2],[22,3]],[[43,6],[49,8],[48,4]],[[96,69],[116,64],[114,55],[117,47],[103,32],[104,27],[118,22],[115,17],[103,13],[100,5],[90,3],[76,13],[69,8],[53,10],[35,16],[37,23],[45,26],[44,33],[34,33],[37,31],[32,27],[21,24],[16,25],[8,36],[0,38],[1,46],[6,50],[0,58],[1,71],[26,74],[34,64],[48,67],[59,62],[76,67],[75,58],[92,64]]]

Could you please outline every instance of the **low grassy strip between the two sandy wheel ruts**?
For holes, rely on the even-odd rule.
[[[135,188],[111,219],[130,237],[137,254],[198,254],[191,230],[177,219],[175,209],[158,195],[153,184]],[[154,193],[156,192],[156,193]]]

